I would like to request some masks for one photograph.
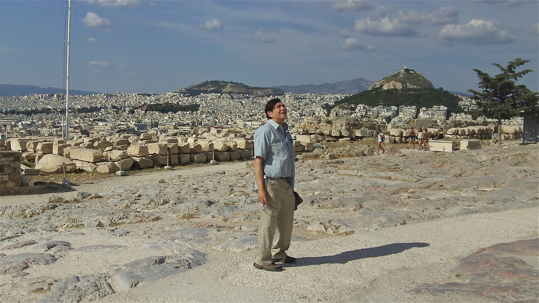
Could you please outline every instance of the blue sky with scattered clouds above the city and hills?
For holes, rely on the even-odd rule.
[[[67,1],[0,1],[0,84],[64,87]],[[376,81],[414,68],[476,89],[473,68],[529,59],[539,91],[538,1],[72,1],[70,88],[163,93]]]

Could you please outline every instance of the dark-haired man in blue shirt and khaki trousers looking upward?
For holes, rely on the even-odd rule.
[[[261,270],[283,271],[276,263],[296,262],[286,254],[294,223],[294,144],[281,100],[269,100],[265,113],[268,122],[254,133],[255,191],[262,209],[253,265]]]

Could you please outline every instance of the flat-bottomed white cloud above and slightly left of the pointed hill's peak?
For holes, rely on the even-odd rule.
[[[371,20],[370,18],[357,19],[354,28],[359,33],[365,33],[371,36],[421,36],[410,25],[403,24],[398,19],[389,19],[388,17],[379,20]]]

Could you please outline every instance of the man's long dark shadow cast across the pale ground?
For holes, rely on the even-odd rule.
[[[426,247],[429,246],[429,243],[391,243],[377,247],[370,247],[367,249],[356,249],[351,251],[345,251],[333,256],[322,256],[322,257],[305,257],[298,258],[295,264],[282,264],[282,267],[293,267],[293,266],[307,266],[307,265],[320,265],[320,264],[332,264],[340,263],[345,264],[348,261],[359,260],[364,258],[375,258],[381,256],[389,256],[390,254],[395,254],[403,252],[412,247]]]

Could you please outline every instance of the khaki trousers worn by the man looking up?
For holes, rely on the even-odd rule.
[[[258,224],[258,265],[272,263],[272,258],[286,257],[294,224],[294,191],[285,178],[268,178],[268,202],[260,210]]]

